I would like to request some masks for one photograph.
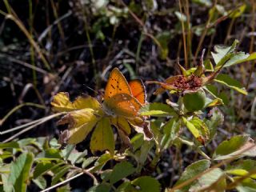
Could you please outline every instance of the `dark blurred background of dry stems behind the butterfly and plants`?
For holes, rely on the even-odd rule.
[[[254,0],[2,0],[0,130],[51,114],[51,98],[59,91],[73,99],[97,96],[115,66],[127,79],[162,81],[178,74],[177,58],[188,69],[197,65],[203,49],[205,58],[211,58],[214,45],[228,46],[238,39],[238,50],[252,53],[255,10]],[[214,143],[233,134],[255,136],[254,63],[224,70],[249,94],[219,87],[226,119]],[[169,95],[155,97],[154,88],[146,87],[148,102],[165,102]],[[14,113],[5,119],[10,110]],[[21,137],[58,134],[52,121]],[[180,155],[190,161],[190,155]]]

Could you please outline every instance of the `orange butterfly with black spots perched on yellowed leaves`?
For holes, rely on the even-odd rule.
[[[123,74],[114,68],[111,71],[104,94],[103,110],[111,116],[134,118],[146,104],[146,90],[139,79],[127,82]]]

